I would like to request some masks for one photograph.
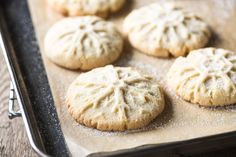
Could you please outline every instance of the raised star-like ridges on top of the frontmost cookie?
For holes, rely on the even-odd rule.
[[[141,82],[141,81],[148,81],[150,79],[150,77],[148,76],[138,76],[138,77],[127,77],[127,78],[121,78],[119,76],[119,69],[115,69],[113,66],[108,66],[107,67],[108,73],[112,73],[112,78],[109,79],[109,81],[106,84],[95,84],[95,83],[87,83],[87,84],[76,84],[76,85],[83,85],[86,87],[91,87],[91,86],[105,86],[106,88],[98,93],[95,97],[95,99],[93,99],[90,103],[87,103],[86,105],[84,105],[81,109],[81,112],[85,112],[86,110],[88,110],[89,108],[97,108],[98,103],[102,100],[104,100],[107,96],[109,96],[112,92],[114,92],[114,105],[112,106],[112,112],[113,113],[118,113],[121,119],[128,119],[128,114],[127,114],[127,110],[130,110],[130,106],[125,102],[125,98],[124,98],[124,89],[127,86],[130,86],[130,84],[132,83],[137,83],[137,82]],[[140,90],[137,87],[132,87],[131,88],[135,88],[136,90]],[[150,94],[144,90],[145,92],[143,93],[143,99],[148,99],[148,100],[153,100],[152,97],[150,97]],[[106,105],[105,105],[106,106]]]

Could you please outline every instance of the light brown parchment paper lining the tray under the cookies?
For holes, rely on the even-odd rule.
[[[125,7],[108,20],[116,23],[122,31],[122,21],[132,9],[165,1],[127,0]],[[213,37],[208,46],[236,51],[236,0],[178,0],[175,3],[197,13],[210,25]],[[134,50],[128,41],[125,42],[122,56],[114,65],[133,66],[156,77],[165,91],[164,112],[149,126],[122,133],[101,132],[77,124],[68,114],[64,102],[69,84],[81,71],[70,71],[54,65],[45,57],[43,49],[46,31],[63,16],[51,11],[43,0],[29,0],[29,6],[62,131],[73,156],[182,141],[236,130],[235,106],[203,108],[181,100],[166,86],[165,81],[174,58],[159,59],[144,55]]]

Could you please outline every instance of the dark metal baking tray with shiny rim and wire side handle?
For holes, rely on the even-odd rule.
[[[40,156],[70,156],[42,63],[27,0],[0,0],[0,45],[12,81],[10,118],[22,116],[30,144]],[[15,99],[21,113],[13,110]],[[236,146],[235,141],[236,131],[233,131],[89,156],[188,156]]]

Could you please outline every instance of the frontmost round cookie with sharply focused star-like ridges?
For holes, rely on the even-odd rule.
[[[80,124],[103,131],[146,126],[164,109],[164,96],[150,76],[108,65],[81,74],[69,87],[66,104]]]

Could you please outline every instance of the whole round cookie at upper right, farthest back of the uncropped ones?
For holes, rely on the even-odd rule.
[[[132,11],[123,30],[133,47],[157,57],[184,56],[203,47],[210,37],[206,23],[172,3],[154,3]]]

